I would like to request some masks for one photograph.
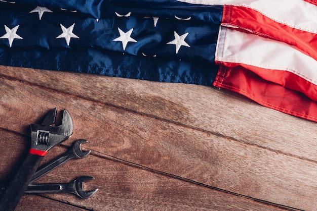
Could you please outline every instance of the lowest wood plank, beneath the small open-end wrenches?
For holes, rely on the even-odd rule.
[[[10,138],[11,143],[15,145],[19,145],[21,140],[27,140],[4,130],[0,130],[0,136]],[[0,150],[6,148],[0,145]],[[16,147],[10,153],[3,153],[2,159],[16,162],[21,149],[27,151],[27,147]],[[66,148],[62,146],[52,148],[44,163],[65,151]],[[0,166],[1,173],[6,174],[7,171],[8,169]],[[25,194],[17,210],[285,210],[105,159],[100,153],[68,161],[36,183],[68,182],[81,175],[96,178],[84,183],[85,190],[99,188],[91,198],[80,199],[72,194],[42,194],[46,197],[43,198]]]

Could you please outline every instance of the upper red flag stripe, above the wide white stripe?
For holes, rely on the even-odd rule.
[[[310,1],[310,3],[312,2]],[[316,2],[312,4],[316,4]],[[275,22],[250,8],[224,6],[221,25],[286,42],[298,47],[307,55],[317,60],[317,34]]]

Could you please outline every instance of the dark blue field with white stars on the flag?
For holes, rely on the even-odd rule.
[[[222,6],[0,0],[0,65],[212,85]]]

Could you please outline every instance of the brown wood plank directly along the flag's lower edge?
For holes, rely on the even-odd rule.
[[[4,66],[0,75],[317,162],[314,122],[264,108],[232,92]]]

